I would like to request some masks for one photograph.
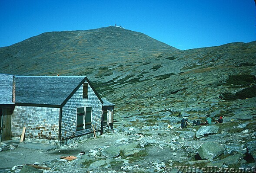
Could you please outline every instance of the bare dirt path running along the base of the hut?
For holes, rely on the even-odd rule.
[[[109,146],[117,139],[123,138],[125,133],[103,134],[96,139],[90,138],[77,143],[77,147],[68,146],[59,147],[53,151],[33,150],[17,147],[14,150],[0,152],[0,170],[3,168],[12,168],[15,165],[29,163],[43,163],[61,156],[76,156],[80,151],[88,153],[90,150],[97,150],[101,146]]]

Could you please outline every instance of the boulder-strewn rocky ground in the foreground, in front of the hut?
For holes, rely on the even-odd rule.
[[[247,105],[254,104],[256,98],[246,99]],[[183,173],[204,168],[220,170],[234,168],[246,170],[255,167],[256,160],[256,123],[255,109],[230,108],[236,114],[225,116],[222,124],[193,126],[193,119],[205,119],[205,116],[188,116],[189,124],[180,129],[182,117],[176,112],[162,109],[150,115],[124,116],[117,118],[114,133],[105,133],[98,138],[90,138],[61,146],[52,151],[15,148],[3,151],[0,157],[23,154],[23,164],[35,163],[50,170],[38,170],[43,173]],[[243,115],[239,111],[243,109]],[[247,111],[247,113],[246,113]],[[252,113],[253,112],[253,113]],[[218,112],[211,114],[217,118]],[[80,151],[85,155],[78,156]],[[67,161],[61,156],[76,156]],[[31,162],[31,158],[34,162]],[[1,159],[1,167],[5,164]],[[21,164],[15,160],[8,166]],[[17,164],[18,163],[18,164]],[[192,168],[193,167],[193,168]],[[29,172],[31,167],[13,167],[2,172]],[[215,168],[216,169],[216,168]],[[0,172],[1,172],[0,171]],[[36,171],[36,170],[31,170]],[[1,173],[2,173],[1,172]],[[191,172],[191,171],[190,171]]]

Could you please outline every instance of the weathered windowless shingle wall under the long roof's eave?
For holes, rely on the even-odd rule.
[[[15,106],[12,114],[12,137],[20,137],[26,126],[26,138],[58,140],[59,117],[60,108]]]

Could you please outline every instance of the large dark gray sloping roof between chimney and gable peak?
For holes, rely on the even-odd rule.
[[[15,103],[62,105],[86,77],[15,76]]]

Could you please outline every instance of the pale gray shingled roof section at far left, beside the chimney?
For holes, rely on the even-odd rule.
[[[13,75],[0,74],[0,105],[14,104]]]

